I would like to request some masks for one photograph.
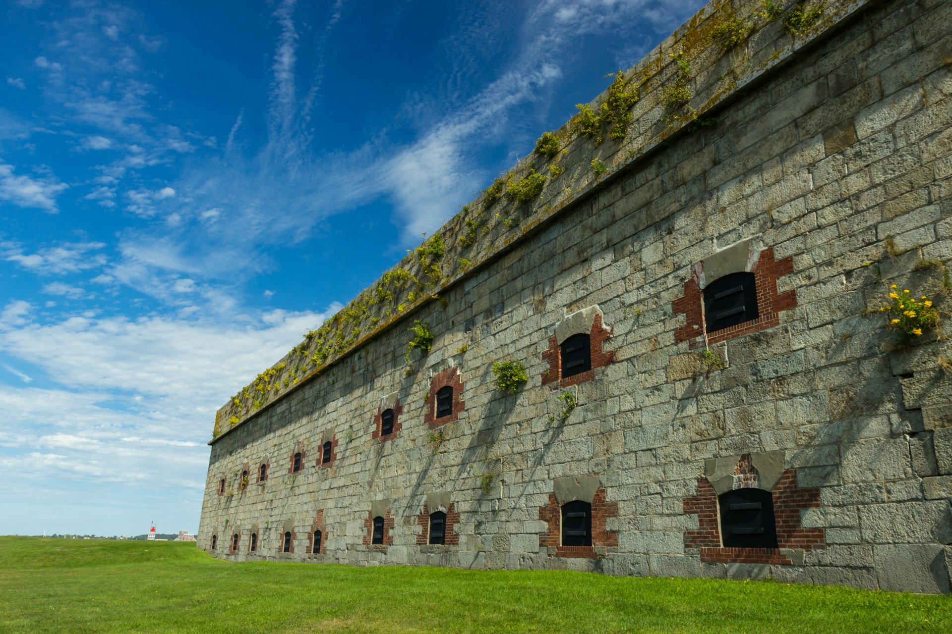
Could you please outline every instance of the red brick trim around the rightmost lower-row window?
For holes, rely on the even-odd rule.
[[[783,548],[826,548],[823,528],[803,528],[801,523],[802,509],[820,507],[820,489],[801,489],[797,485],[797,471],[788,469],[783,471],[771,495],[778,548],[723,548],[717,491],[707,478],[700,478],[698,494],[684,498],[684,514],[698,516],[698,529],[684,531],[684,548],[700,548],[703,562],[786,566],[793,565],[793,562],[782,554]]]

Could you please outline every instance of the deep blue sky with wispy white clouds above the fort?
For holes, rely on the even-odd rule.
[[[228,397],[702,5],[8,2],[0,533],[197,529]]]

